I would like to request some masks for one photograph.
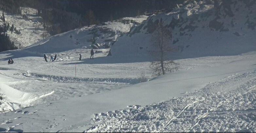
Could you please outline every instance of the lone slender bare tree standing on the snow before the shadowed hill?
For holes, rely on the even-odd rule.
[[[167,57],[169,53],[176,50],[176,48],[171,47],[171,31],[163,25],[162,18],[159,23],[155,24],[155,29],[151,38],[155,49],[149,51],[149,54],[154,57],[154,61],[150,64],[150,68],[153,70],[152,76],[178,71],[179,63],[169,60]]]

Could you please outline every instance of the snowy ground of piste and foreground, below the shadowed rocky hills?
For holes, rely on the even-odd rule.
[[[149,62],[111,63],[116,58],[103,52],[78,61],[76,50],[68,53],[54,62],[0,61],[8,101],[0,106],[31,105],[0,114],[1,131],[255,132],[256,52],[180,59],[180,71],[143,83],[137,75],[150,76]]]

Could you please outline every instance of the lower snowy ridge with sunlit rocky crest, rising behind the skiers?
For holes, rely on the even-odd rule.
[[[141,15],[75,29],[43,39],[23,50],[41,55],[41,53],[58,53],[78,48],[110,48],[117,37],[123,36],[133,25],[140,24],[147,17]]]

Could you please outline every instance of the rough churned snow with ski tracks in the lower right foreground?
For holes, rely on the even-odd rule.
[[[255,75],[235,74],[187,96],[94,114],[84,132],[255,132]]]

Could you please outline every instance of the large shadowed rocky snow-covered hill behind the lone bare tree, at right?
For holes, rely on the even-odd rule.
[[[154,24],[161,19],[172,31],[171,45],[179,49],[175,54],[181,57],[237,55],[256,50],[253,12],[256,12],[255,1],[185,1],[171,12],[153,14],[132,27],[118,38],[111,53],[114,56],[147,55],[151,34],[156,29]]]

